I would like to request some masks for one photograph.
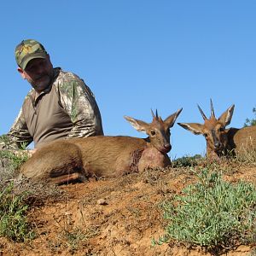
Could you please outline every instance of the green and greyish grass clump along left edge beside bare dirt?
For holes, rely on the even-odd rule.
[[[28,158],[26,152],[20,152],[0,151],[0,236],[13,241],[34,237],[32,226],[26,219],[28,192],[17,193],[14,182],[18,169]]]

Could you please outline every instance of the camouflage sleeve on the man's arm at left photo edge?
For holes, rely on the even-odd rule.
[[[0,148],[26,148],[30,143],[32,143],[32,137],[27,129],[21,108],[20,113],[15,119],[14,124],[11,126],[9,133],[0,137]]]

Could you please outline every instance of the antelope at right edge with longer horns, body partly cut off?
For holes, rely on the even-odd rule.
[[[244,154],[247,150],[256,148],[256,125],[243,127],[241,129],[225,129],[230,125],[235,105],[228,108],[218,119],[215,117],[211,100],[211,117],[207,116],[197,105],[204,119],[203,125],[197,123],[178,123],[184,129],[193,132],[195,135],[202,134],[207,140],[207,157],[218,158],[222,155]]]

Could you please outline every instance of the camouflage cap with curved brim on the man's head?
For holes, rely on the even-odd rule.
[[[23,40],[16,46],[15,59],[19,67],[23,70],[29,61],[36,58],[46,58],[47,51],[44,46],[33,39]]]

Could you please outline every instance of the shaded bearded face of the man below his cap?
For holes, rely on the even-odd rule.
[[[27,63],[25,70],[18,67],[18,71],[38,93],[48,88],[54,75],[49,56],[46,59],[32,59]]]

